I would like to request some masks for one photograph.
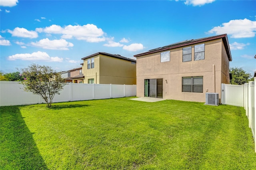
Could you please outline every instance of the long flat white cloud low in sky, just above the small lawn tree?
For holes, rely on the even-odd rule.
[[[8,56],[8,60],[41,60],[41,61],[54,61],[54,62],[62,62],[63,58],[60,57],[50,57],[46,52],[37,51],[34,53],[23,53],[23,54],[15,54]]]

